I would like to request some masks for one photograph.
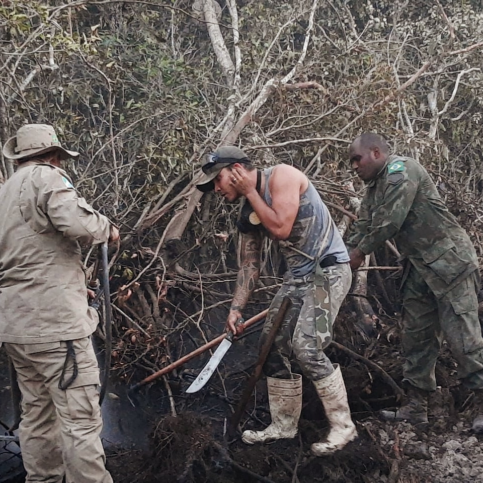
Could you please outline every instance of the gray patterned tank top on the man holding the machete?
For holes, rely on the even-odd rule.
[[[265,176],[263,197],[269,206],[272,206],[272,197],[268,189],[268,181],[273,168],[266,168],[263,171]],[[320,253],[320,244],[327,229],[330,232]],[[286,240],[279,243],[280,251],[285,258],[288,269],[297,278],[304,277],[314,271],[317,257],[319,260],[323,260],[326,257],[334,256],[338,263],[349,262],[350,260],[342,236],[327,206],[310,181],[308,188],[300,195],[300,207],[292,231]]]

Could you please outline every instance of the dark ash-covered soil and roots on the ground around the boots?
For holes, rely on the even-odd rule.
[[[375,362],[400,384],[403,355],[397,318],[380,317],[377,335],[364,339],[354,314],[338,317],[335,340],[328,355],[340,363],[359,437],[346,448],[323,458],[310,454],[310,445],[328,431],[324,410],[309,381],[304,379],[299,434],[293,440],[249,446],[240,430],[262,429],[270,422],[265,380],[262,378],[246,407],[240,425],[230,430],[247,378],[257,359],[257,332],[236,343],[223,359],[219,374],[198,393],[184,391],[209,355],[171,377],[176,416],[164,384],[139,394],[156,408],[148,445],[142,450],[110,448],[107,466],[117,483],[131,482],[277,482],[277,483],[477,483],[483,482],[483,437],[471,433],[473,395],[459,385],[456,363],[443,344],[437,366],[438,390],[429,401],[429,424],[413,427],[378,417],[396,405],[387,379],[363,358]],[[363,356],[356,360],[350,351]],[[297,368],[294,367],[297,372]],[[255,404],[256,401],[256,404]],[[136,411],[131,424],[136,424]]]

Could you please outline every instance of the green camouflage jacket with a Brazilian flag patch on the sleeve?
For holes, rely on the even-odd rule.
[[[366,187],[346,245],[370,254],[394,238],[437,298],[478,268],[467,233],[444,205],[434,182],[414,159],[389,156]]]

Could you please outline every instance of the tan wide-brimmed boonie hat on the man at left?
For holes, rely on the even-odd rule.
[[[63,157],[77,157],[77,151],[69,151],[60,145],[54,128],[47,124],[26,124],[22,126],[17,135],[11,137],[4,145],[4,156],[9,159],[23,159],[33,157],[35,154],[59,149]]]

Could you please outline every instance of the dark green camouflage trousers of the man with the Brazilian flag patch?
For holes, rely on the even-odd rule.
[[[411,266],[403,285],[404,381],[420,389],[436,389],[435,366],[442,340],[458,362],[458,377],[470,389],[483,388],[483,339],[478,320],[475,271],[436,298]]]

